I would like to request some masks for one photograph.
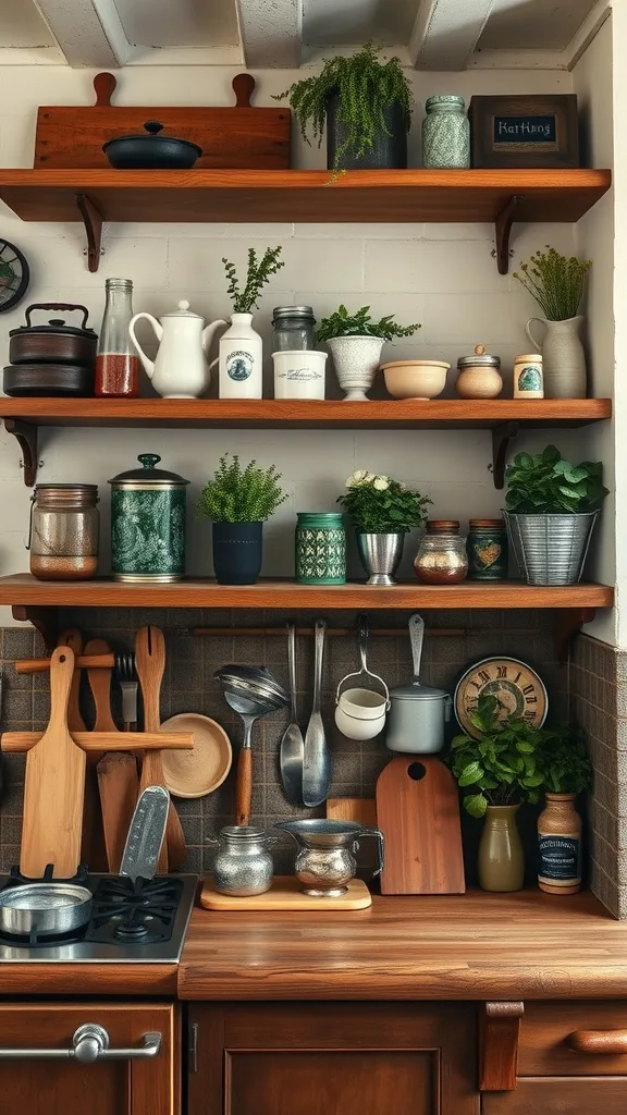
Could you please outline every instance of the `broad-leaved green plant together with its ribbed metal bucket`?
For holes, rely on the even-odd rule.
[[[528,584],[576,584],[608,494],[602,464],[571,465],[554,445],[519,453],[505,469],[510,543]]]

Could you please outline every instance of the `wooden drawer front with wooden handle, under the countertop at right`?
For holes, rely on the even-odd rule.
[[[577,1051],[571,1048],[573,1034],[581,1035],[582,1048]],[[609,1051],[602,1051],[604,1046]],[[617,1051],[621,1046],[625,1053]],[[519,1076],[627,1076],[627,1001],[527,1002],[518,1072]],[[627,1108],[627,1083],[625,1088]]]

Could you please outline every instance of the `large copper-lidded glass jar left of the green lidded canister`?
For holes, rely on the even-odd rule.
[[[95,484],[38,484],[31,496],[30,572],[38,581],[88,581],[98,569]]]

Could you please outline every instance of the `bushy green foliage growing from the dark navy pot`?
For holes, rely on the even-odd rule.
[[[287,500],[280,479],[274,465],[260,468],[251,460],[242,468],[238,456],[225,455],[203,487],[197,511],[214,523],[262,523]]]

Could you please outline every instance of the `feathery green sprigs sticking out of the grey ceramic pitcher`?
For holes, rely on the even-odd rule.
[[[521,263],[514,279],[533,295],[548,321],[567,321],[579,312],[591,261],[560,255],[549,244],[547,249]]]

